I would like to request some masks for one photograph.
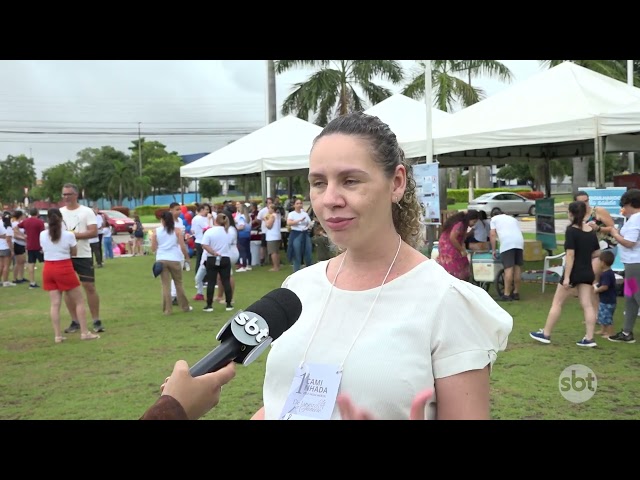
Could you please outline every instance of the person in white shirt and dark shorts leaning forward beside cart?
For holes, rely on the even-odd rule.
[[[499,300],[520,300],[520,280],[524,265],[524,236],[518,220],[501,213],[491,217],[489,241],[493,258],[498,258],[496,240],[500,241],[500,259],[504,266],[504,292]],[[513,289],[512,289],[513,287]]]

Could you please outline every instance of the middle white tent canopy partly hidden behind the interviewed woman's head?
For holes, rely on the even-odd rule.
[[[364,113],[375,115],[389,125],[407,158],[426,155],[427,106],[424,102],[397,93]],[[431,121],[434,124],[450,116],[437,108],[431,109]]]

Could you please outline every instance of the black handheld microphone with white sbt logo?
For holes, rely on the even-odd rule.
[[[218,332],[221,343],[189,369],[192,377],[215,372],[232,360],[249,365],[300,317],[302,303],[288,288],[267,293],[240,310]]]

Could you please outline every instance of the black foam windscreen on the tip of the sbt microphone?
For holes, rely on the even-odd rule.
[[[264,318],[269,325],[269,336],[276,340],[291,327],[302,313],[302,303],[288,288],[277,288],[245,309]]]

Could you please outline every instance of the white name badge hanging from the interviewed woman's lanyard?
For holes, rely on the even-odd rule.
[[[280,420],[329,420],[341,379],[336,365],[305,363],[298,367]]]

